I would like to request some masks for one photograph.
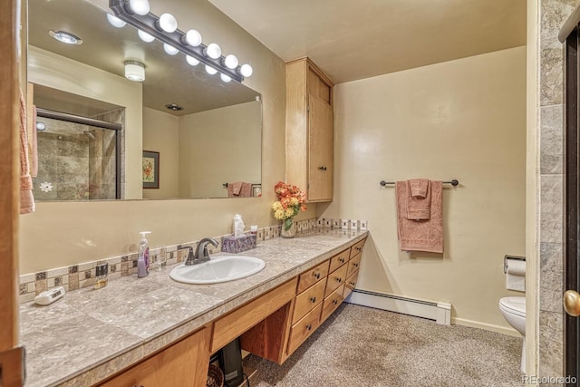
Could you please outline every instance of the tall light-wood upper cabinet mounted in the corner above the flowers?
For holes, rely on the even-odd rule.
[[[308,58],[286,63],[286,181],[333,199],[333,82]]]

